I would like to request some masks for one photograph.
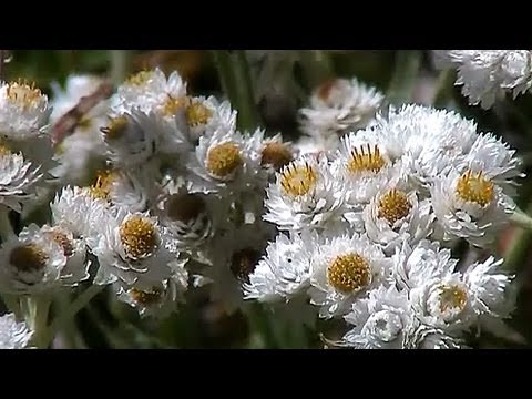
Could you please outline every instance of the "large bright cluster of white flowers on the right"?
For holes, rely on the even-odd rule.
[[[460,348],[481,329],[501,335],[514,307],[512,276],[502,259],[464,265],[450,247],[493,243],[520,175],[513,150],[457,113],[379,113],[336,150],[276,173],[264,218],[279,234],[246,297],[307,297],[319,317],[344,317],[350,330],[336,345],[346,347]]]

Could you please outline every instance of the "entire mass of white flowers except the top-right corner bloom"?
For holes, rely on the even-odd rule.
[[[450,252],[493,243],[521,175],[514,151],[472,121],[385,108],[376,89],[334,80],[289,143],[239,132],[227,101],[156,69],[52,140],[101,83],[71,76],[53,102],[23,82],[0,88],[2,212],[51,198],[48,223],[2,229],[0,294],[90,282],[164,317],[207,286],[227,313],[258,300],[296,323],[345,318],[336,344],[355,348],[458,348],[504,331],[514,299],[502,259]],[[2,347],[29,345],[20,323],[1,319]]]

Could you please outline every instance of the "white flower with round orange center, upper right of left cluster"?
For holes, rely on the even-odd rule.
[[[195,152],[190,154],[187,177],[192,181],[192,192],[234,193],[254,182],[257,167],[246,151],[244,137],[224,127],[200,137]]]

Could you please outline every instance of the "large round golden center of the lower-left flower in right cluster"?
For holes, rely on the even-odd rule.
[[[354,294],[371,283],[371,267],[358,254],[339,255],[329,265],[327,279],[337,291]]]

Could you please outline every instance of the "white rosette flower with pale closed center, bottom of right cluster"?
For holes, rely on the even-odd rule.
[[[357,349],[402,349],[405,335],[415,323],[408,294],[393,286],[371,290],[344,318],[355,327],[342,341]]]

